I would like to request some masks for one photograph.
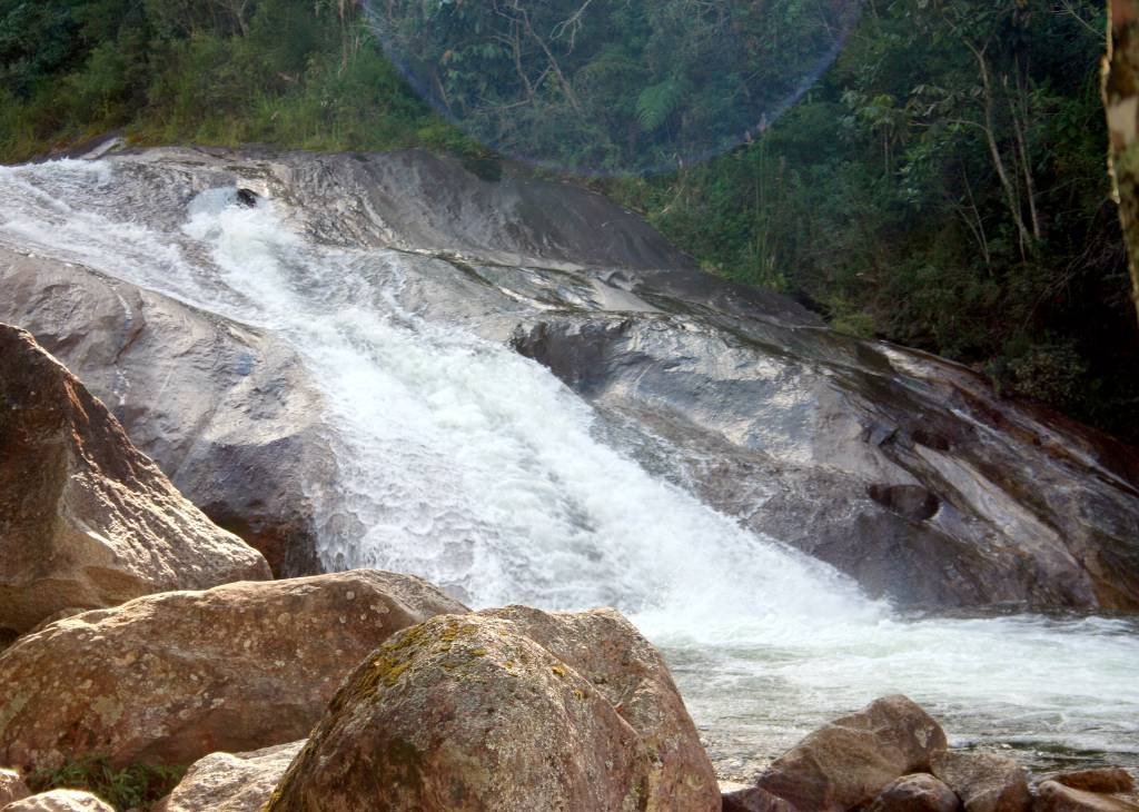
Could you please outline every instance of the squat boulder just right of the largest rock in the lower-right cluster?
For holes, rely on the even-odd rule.
[[[1027,812],[1029,773],[1014,758],[947,751],[933,757],[933,774],[957,793],[965,812]]]

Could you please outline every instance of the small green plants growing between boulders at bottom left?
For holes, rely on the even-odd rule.
[[[116,810],[148,810],[173,790],[186,774],[185,768],[132,764],[112,769],[106,758],[89,757],[67,762],[56,770],[39,770],[27,777],[35,793],[49,789],[82,789]]]

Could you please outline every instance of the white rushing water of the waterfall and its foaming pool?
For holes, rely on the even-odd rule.
[[[958,740],[1139,763],[1133,622],[903,618],[605,445],[539,364],[404,310],[425,260],[314,245],[233,191],[161,224],[121,203],[110,164],[0,167],[0,243],[288,342],[338,444],[327,563],[412,572],[475,606],[617,606],[665,649],[727,770],[892,691]]]

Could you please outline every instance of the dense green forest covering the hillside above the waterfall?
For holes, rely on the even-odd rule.
[[[432,3],[387,3],[385,15],[393,6],[415,23]],[[805,95],[790,82],[762,99],[755,109],[797,99],[759,122],[762,132],[738,133],[745,142],[708,161],[674,159],[665,173],[618,171],[630,155],[667,163],[669,133],[690,142],[735,109],[724,100],[746,83],[714,63],[715,36],[687,47],[691,31],[744,32],[740,52],[770,74],[779,54],[760,47],[770,38],[747,15],[786,22],[809,6],[654,0],[636,18],[605,16],[604,36],[588,20],[563,26],[574,59],[531,73],[522,59],[546,42],[521,36],[528,7],[503,0],[509,36],[495,28],[494,49],[470,40],[475,23],[456,25],[461,47],[403,40],[418,63],[401,68],[420,96],[376,36],[390,15],[351,0],[0,0],[0,159],[122,128],[140,145],[425,146],[494,178],[503,161],[484,143],[514,157],[556,147],[557,165],[608,170],[579,182],[644,212],[708,270],[780,289],[847,333],[957,359],[1003,392],[1139,440],[1139,334],[1105,171],[1103,2],[868,0]],[[846,19],[850,7],[833,6]],[[743,17],[707,16],[731,7]],[[570,19],[534,28],[552,36]],[[688,39],[672,41],[678,20]],[[800,44],[787,65],[813,65],[826,51]],[[514,102],[472,79],[481,75],[464,68],[472,58],[514,71],[511,92],[530,106],[516,118],[487,117],[469,100]],[[448,66],[439,93],[418,81],[434,65]],[[788,67],[788,76],[808,73]],[[559,139],[538,125],[559,106],[590,104],[598,115],[623,110],[621,126]],[[505,132],[503,121],[522,123]],[[738,129],[713,146],[730,146]]]

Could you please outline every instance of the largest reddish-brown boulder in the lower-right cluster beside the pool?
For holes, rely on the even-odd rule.
[[[845,812],[892,781],[929,772],[945,733],[903,696],[888,696],[809,735],[760,776],[760,789],[805,812]]]

